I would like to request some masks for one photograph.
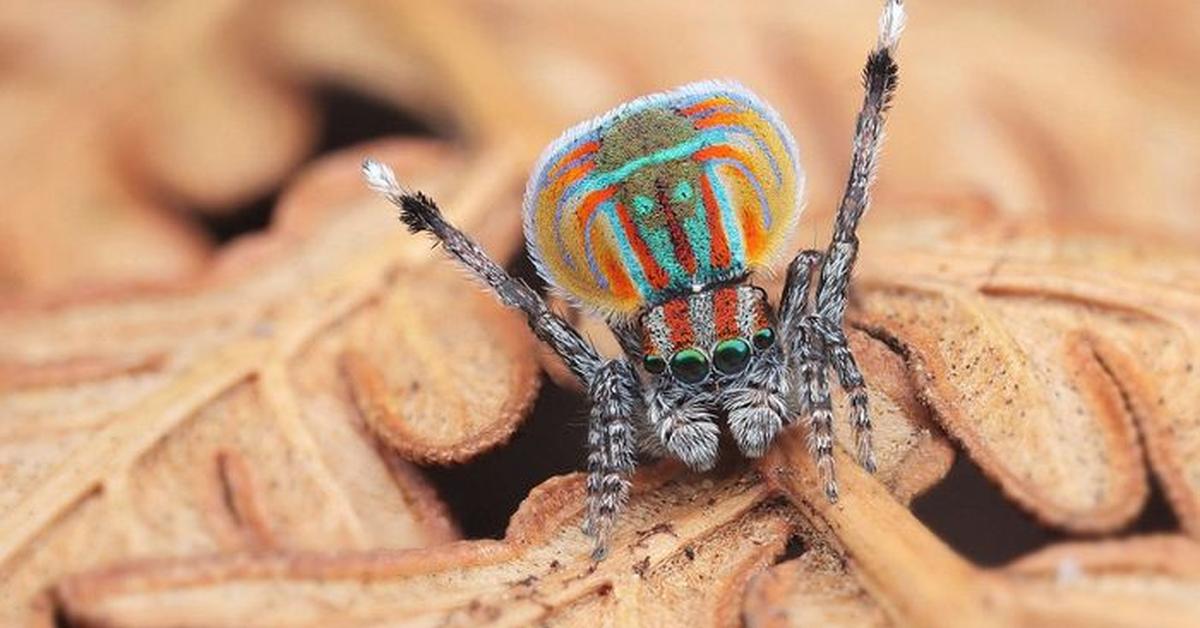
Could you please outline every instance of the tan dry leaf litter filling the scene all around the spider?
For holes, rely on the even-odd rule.
[[[56,606],[115,626],[1198,623],[1194,2],[914,5],[853,311],[881,473],[839,460],[827,504],[802,430],[757,473],[654,469],[594,569],[576,477],[534,490],[504,540],[454,540],[413,462],[508,438],[535,352],[400,233],[358,160],[391,162],[504,257],[554,130],[724,74],[793,127],[818,232],[875,7],[713,4],[682,24],[667,0],[415,5],[0,10],[22,50],[0,98],[0,289],[169,280],[0,307],[0,623]],[[131,89],[89,98],[106,80]],[[211,255],[167,205],[220,213],[276,185],[314,137],[301,88],[324,82],[469,148],[337,156],[288,187],[269,234]],[[964,189],[986,201],[905,195]],[[1183,530],[978,568],[905,508],[952,439],[1068,534],[1124,530],[1150,472]]]

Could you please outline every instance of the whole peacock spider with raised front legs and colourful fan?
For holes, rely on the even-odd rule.
[[[886,0],[868,56],[850,180],[833,241],[788,265],[779,306],[749,279],[782,252],[802,208],[804,175],[780,116],[745,88],[704,82],[622,104],[566,131],[526,190],[529,253],[546,281],[608,319],[625,353],[604,358],[524,283],[514,280],[421,193],[367,161],[367,183],[400,205],[413,231],[437,237],[587,387],[588,514],[602,556],[629,494],[636,454],[706,469],[721,425],[746,456],[805,417],[830,500],[833,411],[828,372],[851,403],[859,461],[874,468],[862,375],[842,328],[856,231],[866,210],[896,85],[901,0]]]

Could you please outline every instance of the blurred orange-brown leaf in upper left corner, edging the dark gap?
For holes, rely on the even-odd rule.
[[[307,86],[434,109],[449,90],[394,35],[350,4],[0,7],[0,291],[194,275],[211,245],[179,205],[227,213],[292,174],[319,132]]]

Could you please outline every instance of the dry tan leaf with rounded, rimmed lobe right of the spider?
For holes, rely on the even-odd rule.
[[[1129,229],[937,205],[874,216],[857,311],[907,352],[947,432],[1020,504],[1080,532],[1141,509],[1140,432],[1198,534],[1200,256]]]

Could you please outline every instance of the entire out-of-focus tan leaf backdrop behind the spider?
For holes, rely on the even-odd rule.
[[[306,162],[385,134],[533,155],[646,91],[736,78],[840,187],[875,1],[0,6],[0,294],[202,271]],[[1200,5],[919,0],[884,193],[1200,241]],[[528,157],[528,159],[532,159]]]

